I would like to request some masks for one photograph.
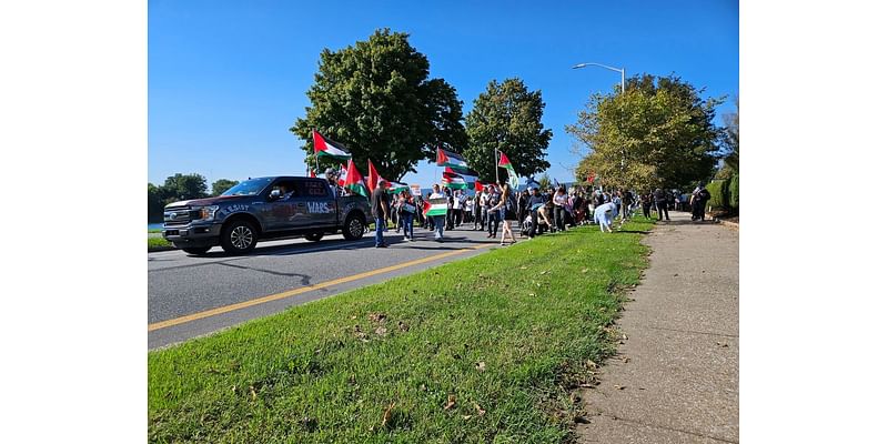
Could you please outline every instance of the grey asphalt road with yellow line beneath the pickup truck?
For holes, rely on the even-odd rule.
[[[500,233],[492,240],[486,231],[470,229],[464,224],[445,231],[442,243],[421,228],[414,228],[415,242],[390,230],[387,249],[375,249],[373,233],[367,233],[353,242],[340,234],[320,242],[260,242],[244,256],[228,256],[218,246],[201,258],[179,250],[149,253],[148,347],[500,248]]]

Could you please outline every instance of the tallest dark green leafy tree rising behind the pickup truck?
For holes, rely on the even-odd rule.
[[[290,129],[305,141],[309,164],[315,162],[312,128],[343,143],[362,171],[370,159],[389,180],[415,172],[423,159],[435,159],[438,143],[466,144],[456,90],[442,79],[428,79],[428,60],[407,37],[376,30],[367,41],[321,52],[307,92],[312,104]]]

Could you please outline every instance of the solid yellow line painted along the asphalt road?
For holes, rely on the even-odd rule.
[[[395,265],[392,265],[392,266],[386,266],[384,269],[376,269],[376,270],[367,271],[367,272],[364,272],[364,273],[353,274],[351,276],[339,278],[339,279],[334,279],[334,280],[331,280],[331,281],[321,282],[319,284],[300,286],[299,289],[289,290],[289,291],[285,291],[283,293],[270,294],[268,296],[262,296],[262,297],[253,299],[253,300],[250,300],[250,301],[239,302],[236,304],[220,306],[218,309],[206,310],[206,311],[203,311],[203,312],[189,314],[186,316],[181,316],[181,317],[175,317],[175,319],[171,319],[171,320],[167,320],[167,321],[155,322],[153,324],[148,324],[148,331],[149,332],[153,332],[154,330],[160,330],[160,329],[165,329],[168,326],[184,324],[186,322],[191,322],[191,321],[196,321],[196,320],[204,319],[204,317],[214,316],[216,314],[229,313],[229,312],[233,312],[235,310],[246,309],[249,306],[264,304],[266,302],[278,301],[278,300],[281,300],[281,299],[284,299],[284,297],[295,296],[296,294],[307,293],[310,291],[323,289],[325,286],[337,285],[337,284],[346,283],[346,282],[357,281],[360,279],[374,276],[376,274],[387,273],[390,271],[401,270],[401,269],[405,269],[407,266],[413,266],[413,265],[418,265],[421,263],[432,262],[432,261],[435,261],[435,260],[438,260],[438,259],[443,259],[443,258],[452,256],[452,255],[455,255],[455,254],[464,253],[466,251],[481,250],[481,249],[483,249],[485,246],[491,246],[491,245],[493,245],[493,244],[485,243],[485,244],[481,244],[481,245],[473,245],[473,246],[468,246],[468,248],[465,248],[465,249],[462,249],[462,250],[451,251],[451,252],[447,252],[447,253],[441,253],[441,254],[436,254],[436,255],[428,256],[428,258],[417,259],[417,260],[414,260],[414,261],[402,262],[400,264],[395,264]]]

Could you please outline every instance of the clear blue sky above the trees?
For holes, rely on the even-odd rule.
[[[738,2],[697,1],[172,1],[148,3],[148,180],[176,172],[218,179],[303,174],[289,131],[322,49],[366,40],[377,28],[407,32],[431,77],[456,88],[468,113],[492,80],[517,77],[541,90],[554,135],[548,174],[572,181],[576,141],[564,128],[588,95],[619,73],[675,73],[704,97],[739,94]],[[728,99],[718,109],[734,109]],[[361,168],[364,168],[362,165]],[[436,181],[421,163],[408,183]],[[366,173],[366,172],[364,172]],[[538,176],[537,176],[538,178]],[[391,178],[390,178],[391,179]]]

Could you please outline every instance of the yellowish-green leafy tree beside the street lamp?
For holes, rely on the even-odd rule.
[[[724,98],[704,101],[702,92],[677,77],[644,74],[628,79],[625,93],[593,94],[566,128],[591,150],[577,179],[595,172],[604,186],[686,189],[710,178],[722,141],[713,118]]]

